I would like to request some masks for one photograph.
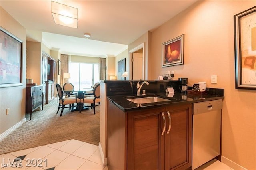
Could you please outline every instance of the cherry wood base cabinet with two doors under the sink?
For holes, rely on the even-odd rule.
[[[189,168],[192,166],[192,105],[124,113],[108,101],[107,159],[110,170]]]

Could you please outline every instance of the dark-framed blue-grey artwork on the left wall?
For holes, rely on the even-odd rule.
[[[23,42],[0,27],[0,87],[22,85]]]

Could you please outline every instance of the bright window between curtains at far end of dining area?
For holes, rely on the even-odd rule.
[[[99,82],[99,66],[90,63],[70,63],[70,79],[76,90],[92,88]]]

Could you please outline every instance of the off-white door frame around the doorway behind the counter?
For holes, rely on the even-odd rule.
[[[131,61],[130,63],[130,69],[129,69],[129,75],[132,75],[131,77],[130,77],[130,79],[132,80],[133,79],[133,68],[132,68],[132,58],[133,58],[133,56],[132,56],[132,54],[134,53],[134,52],[136,52],[136,51],[138,51],[139,49],[141,49],[142,48],[142,79],[144,80],[145,79],[145,43],[141,43],[140,45],[138,45],[137,47],[135,47],[135,48],[133,48],[133,49],[131,49],[130,51],[129,51],[129,61]]]

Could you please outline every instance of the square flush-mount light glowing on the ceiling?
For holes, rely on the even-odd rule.
[[[78,9],[52,1],[52,16],[55,24],[78,27]]]

